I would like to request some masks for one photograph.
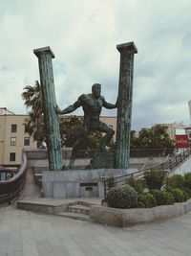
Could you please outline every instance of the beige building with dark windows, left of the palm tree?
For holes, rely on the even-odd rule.
[[[18,167],[23,148],[36,148],[36,142],[25,133],[27,115],[15,115],[6,107],[0,108],[0,166]]]

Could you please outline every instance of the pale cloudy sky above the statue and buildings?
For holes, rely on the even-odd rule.
[[[117,99],[117,44],[134,41],[132,128],[190,124],[190,0],[0,0],[0,106],[25,114],[23,87],[39,80],[33,49],[51,46],[57,104],[95,82]],[[75,114],[82,114],[81,110]],[[104,110],[102,115],[116,115]]]

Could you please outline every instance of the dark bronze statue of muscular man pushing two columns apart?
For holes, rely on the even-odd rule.
[[[115,105],[107,103],[104,97],[100,95],[100,93],[101,84],[95,83],[92,86],[92,93],[82,94],[81,96],[79,96],[74,105],[69,105],[63,110],[61,110],[57,105],[55,107],[57,114],[72,113],[79,106],[82,106],[84,111],[83,127],[81,129],[80,137],[74,143],[72,157],[69,164],[69,167],[72,169],[74,167],[76,151],[78,150],[79,145],[84,141],[84,139],[88,136],[88,134],[91,131],[98,130],[100,132],[106,133],[106,135],[101,140],[99,151],[106,151],[105,147],[115,133],[115,131],[112,128],[108,127],[105,123],[99,121],[99,116],[102,106],[108,109],[112,109],[117,107],[117,103]]]

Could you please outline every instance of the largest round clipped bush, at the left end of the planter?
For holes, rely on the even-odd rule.
[[[125,184],[109,190],[106,200],[110,207],[126,209],[137,207],[138,194],[134,188]]]

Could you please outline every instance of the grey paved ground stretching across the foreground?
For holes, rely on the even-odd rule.
[[[117,228],[0,208],[0,256],[191,256],[191,213]]]

